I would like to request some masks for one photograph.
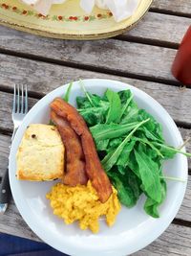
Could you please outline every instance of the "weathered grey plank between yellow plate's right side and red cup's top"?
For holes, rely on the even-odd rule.
[[[141,38],[142,41],[149,39],[154,44],[169,43],[177,47],[190,23],[190,18],[148,12],[135,29],[121,37],[125,39],[136,37],[137,40]]]

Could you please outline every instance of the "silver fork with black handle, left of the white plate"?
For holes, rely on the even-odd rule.
[[[28,89],[27,86],[14,85],[13,105],[11,118],[14,125],[11,141],[14,138],[16,130],[21,125],[25,115],[28,112]],[[9,182],[9,170],[2,177],[0,184],[0,213],[5,213],[11,198],[11,188]]]

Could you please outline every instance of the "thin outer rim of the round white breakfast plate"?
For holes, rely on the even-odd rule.
[[[138,93],[142,94],[142,95],[145,95],[148,99],[152,99],[152,101],[154,101],[157,105],[159,105],[159,103],[154,99],[152,98],[150,95],[148,95],[147,93],[145,93],[144,91],[138,89],[137,87],[129,84],[129,83],[125,83],[125,82],[122,82],[122,81],[115,81],[115,80],[105,80],[105,79],[90,79],[90,80],[84,80],[84,82],[91,82],[91,81],[95,81],[95,82],[98,82],[100,84],[100,81],[107,81],[107,82],[110,82],[114,85],[114,83],[118,83],[119,85],[121,85],[121,87],[124,85],[128,88],[133,88],[134,91],[138,91]],[[78,83],[78,81],[74,81],[74,83]],[[49,94],[47,94],[46,96],[44,96],[40,101],[38,101],[34,106],[35,108],[37,108],[37,106],[39,106],[41,104],[41,102],[44,100],[44,98],[47,98],[49,99],[50,97],[50,94],[53,94],[53,92],[58,92],[60,91],[61,89],[63,90],[66,90],[66,86],[68,85],[69,83],[67,84],[64,84],[64,85],[61,85],[59,87],[57,87],[56,89],[54,89],[53,91],[51,91]],[[32,109],[34,108],[34,106],[32,106]],[[168,114],[168,112],[165,110],[165,108],[162,106],[162,105],[159,105],[160,109],[162,111],[164,111],[167,115],[168,115],[168,118],[169,118],[169,122],[171,121],[172,125],[174,126],[174,128],[177,129],[178,133],[179,133],[179,136],[181,138],[181,135],[180,135],[180,130],[179,128],[177,128],[175,122],[173,121],[172,117]],[[28,114],[30,114],[33,110],[30,110]],[[27,119],[27,116],[25,117],[25,119]],[[21,125],[22,126],[22,125]],[[24,125],[23,125],[24,126]],[[11,191],[12,191],[12,196],[14,198],[14,201],[15,201],[15,204],[17,206],[17,208],[19,209],[19,212],[22,216],[22,218],[24,219],[24,221],[27,222],[27,224],[30,226],[30,228],[32,229],[32,231],[37,235],[39,236],[43,241],[45,241],[47,244],[51,244],[53,246],[53,243],[52,241],[50,240],[50,238],[48,238],[41,230],[39,230],[38,228],[36,228],[36,226],[34,226],[32,224],[32,221],[29,219],[29,217],[27,217],[25,214],[24,214],[24,208],[22,206],[22,204],[20,202],[18,202],[18,198],[15,197],[15,194],[13,193],[14,191],[14,188],[13,188],[13,175],[11,174],[11,160],[13,159],[12,157],[15,157],[15,155],[12,155],[12,149],[13,149],[13,146],[16,142],[16,138],[18,137],[19,135],[19,131],[20,131],[21,127],[18,128],[17,132],[16,132],[16,135],[15,135],[15,138],[12,142],[12,145],[11,145],[11,154],[10,154],[10,162],[9,162],[9,174],[10,174],[10,183],[11,183]],[[185,151],[185,149],[183,149],[183,151]],[[185,165],[185,176],[186,176],[186,180],[187,180],[187,170],[188,170],[188,162],[187,162],[187,158],[183,158],[184,160],[184,165]],[[186,183],[184,185],[184,187],[181,189],[182,193],[181,195],[179,196],[179,203],[176,205],[174,211],[173,211],[173,214],[172,213],[168,213],[167,215],[167,221],[165,223],[162,223],[160,226],[159,226],[159,231],[155,230],[154,232],[154,236],[152,239],[148,239],[146,238],[146,242],[143,242],[143,241],[140,241],[137,246],[132,250],[132,251],[128,251],[128,253],[133,253],[133,252],[136,252],[138,251],[139,249],[145,247],[146,245],[148,244],[151,244],[153,241],[155,241],[164,231],[165,229],[169,226],[169,224],[171,223],[171,221],[175,218],[175,216],[177,215],[178,213],[178,210],[180,209],[180,204],[182,202],[182,199],[184,198],[184,195],[185,195],[185,190],[186,190]],[[166,219],[165,219],[166,220]],[[64,244],[64,243],[63,243]],[[66,244],[65,244],[66,245]],[[71,248],[67,248],[66,247],[64,248],[64,251],[63,251],[63,245],[62,245],[62,248],[61,247],[55,247],[57,250],[60,250],[64,253],[69,253],[71,254]],[[71,255],[84,255],[84,252],[87,252],[83,247],[77,247],[78,249],[78,253],[76,254],[76,250],[75,250],[75,253],[71,254]],[[125,250],[126,251],[126,250]],[[118,254],[118,255],[124,255],[124,253],[126,253],[124,251],[124,247],[123,247],[123,250],[122,250],[122,254]],[[97,251],[92,251],[90,248],[88,250],[89,252],[89,255],[94,255],[96,256],[97,255],[97,252],[100,252],[99,250]],[[115,252],[116,253],[116,252]],[[113,254],[112,251],[109,251],[108,253],[102,253],[102,255],[116,255],[116,254]]]

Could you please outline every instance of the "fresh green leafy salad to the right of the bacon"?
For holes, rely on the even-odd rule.
[[[69,99],[69,91],[65,100]],[[98,96],[87,92],[77,97],[77,110],[90,128],[102,166],[127,207],[137,204],[144,194],[145,212],[159,218],[159,205],[166,197],[163,162],[176,153],[191,156],[166,145],[160,124],[144,109],[138,108],[129,89],[107,89]]]

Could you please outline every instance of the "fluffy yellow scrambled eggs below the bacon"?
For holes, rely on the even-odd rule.
[[[79,221],[81,229],[90,228],[94,233],[99,231],[100,216],[105,215],[107,224],[112,226],[120,210],[117,190],[113,187],[111,197],[105,203],[101,203],[91,181],[88,181],[87,186],[76,187],[57,183],[47,194],[47,198],[51,200],[53,214],[64,219],[66,224]]]

